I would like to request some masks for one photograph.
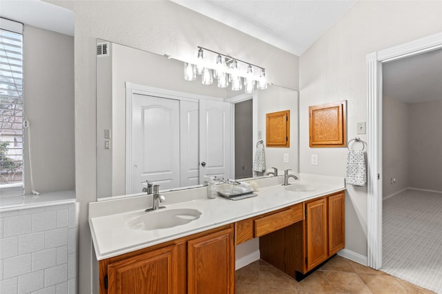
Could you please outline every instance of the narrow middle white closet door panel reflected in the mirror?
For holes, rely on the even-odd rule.
[[[181,186],[200,184],[198,102],[180,101]]]

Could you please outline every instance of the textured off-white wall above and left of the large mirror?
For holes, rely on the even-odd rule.
[[[298,90],[298,57],[169,1],[50,1],[75,12],[75,188],[79,215],[79,293],[97,293],[88,227],[95,201],[96,38],[180,59],[197,46],[259,64],[269,80]],[[213,37],[216,34],[216,37]],[[93,266],[95,267],[93,271]],[[94,282],[92,277],[94,276]]]

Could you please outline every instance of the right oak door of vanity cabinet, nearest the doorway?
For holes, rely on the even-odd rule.
[[[345,194],[332,195],[329,202],[329,256],[345,246]]]

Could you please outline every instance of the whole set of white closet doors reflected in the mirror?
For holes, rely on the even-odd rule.
[[[231,176],[231,104],[131,97],[126,193],[140,193],[146,180],[164,190]]]

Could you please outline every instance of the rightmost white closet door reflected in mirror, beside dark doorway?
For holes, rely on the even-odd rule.
[[[231,178],[231,104],[200,100],[200,183]]]

